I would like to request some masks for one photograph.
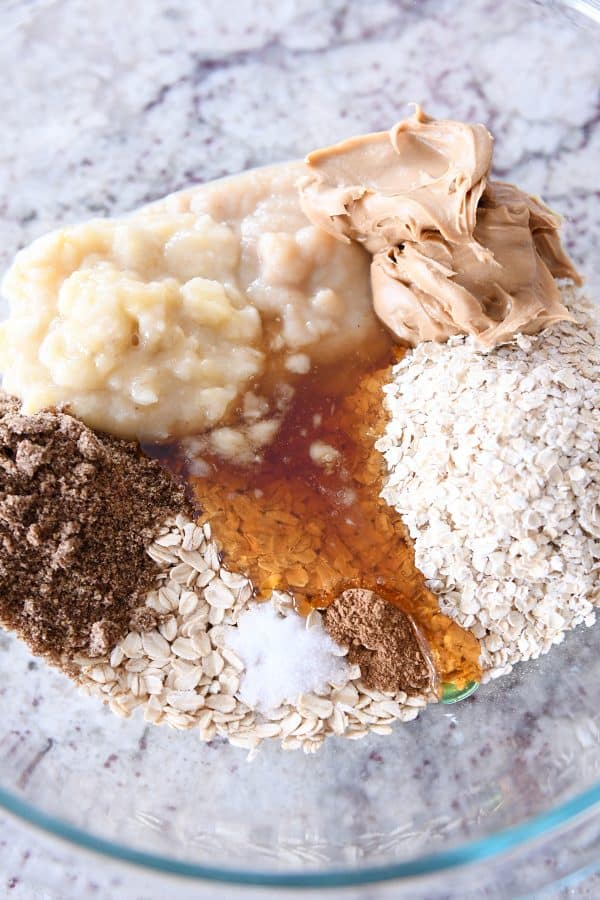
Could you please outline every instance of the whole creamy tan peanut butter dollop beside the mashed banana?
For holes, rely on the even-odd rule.
[[[309,154],[302,208],[373,255],[373,304],[411,346],[469,334],[491,348],[569,318],[555,278],[580,282],[560,220],[514,185],[490,181],[483,125],[417,106],[389,132]]]

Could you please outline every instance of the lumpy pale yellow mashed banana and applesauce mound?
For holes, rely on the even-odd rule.
[[[63,402],[88,425],[163,440],[256,416],[313,365],[379,352],[369,260],[302,213],[288,164],[202,185],[122,219],[61,229],[3,282],[4,387],[26,412]],[[379,348],[379,350],[378,350]],[[240,443],[219,434],[225,453]]]

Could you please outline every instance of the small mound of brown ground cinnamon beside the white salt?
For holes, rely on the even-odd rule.
[[[435,684],[427,643],[410,616],[373,591],[343,591],[323,616],[326,631],[347,645],[367,687],[421,692]]]

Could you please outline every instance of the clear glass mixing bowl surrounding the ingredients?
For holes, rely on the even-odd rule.
[[[49,228],[386,128],[416,100],[490,127],[497,176],[563,213],[594,285],[598,30],[576,6],[5,3],[0,265]],[[264,745],[247,762],[114,718],[1,635],[0,804],[155,872],[397,879],[396,896],[415,896],[415,876],[441,883],[600,804],[597,641],[574,633],[391,737],[331,739],[310,757]]]

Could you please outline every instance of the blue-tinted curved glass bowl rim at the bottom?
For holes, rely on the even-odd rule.
[[[537,816],[517,825],[499,829],[484,838],[465,841],[451,850],[425,854],[406,862],[365,866],[360,869],[332,868],[325,871],[269,872],[265,869],[248,870],[209,866],[183,860],[170,859],[161,854],[136,850],[129,845],[98,837],[57,816],[44,813],[32,804],[0,788],[0,810],[33,826],[51,838],[113,862],[126,863],[157,875],[174,875],[188,881],[205,881],[245,887],[280,888],[345,888],[381,884],[391,881],[408,881],[435,875],[440,872],[469,866],[489,860],[530,845],[544,838],[561,826],[600,806],[600,783],[576,794]]]

